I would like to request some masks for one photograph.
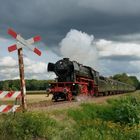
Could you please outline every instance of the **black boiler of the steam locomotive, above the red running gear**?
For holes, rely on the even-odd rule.
[[[48,71],[53,71],[58,76],[58,82],[75,82],[77,77],[94,79],[99,73],[90,67],[83,66],[76,61],[64,58],[55,64],[48,64]]]

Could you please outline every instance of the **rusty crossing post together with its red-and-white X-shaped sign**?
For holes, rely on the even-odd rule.
[[[31,44],[40,41],[41,37],[36,36],[34,38],[25,40],[19,34],[17,34],[13,29],[8,29],[8,34],[17,40],[17,43],[8,47],[8,51],[12,52],[18,50],[18,62],[19,62],[19,73],[20,73],[20,86],[21,86],[21,96],[22,96],[22,109],[25,111],[27,109],[26,103],[26,85],[24,79],[24,63],[23,63],[23,51],[22,48],[28,48],[32,50],[37,55],[41,56],[41,51]]]

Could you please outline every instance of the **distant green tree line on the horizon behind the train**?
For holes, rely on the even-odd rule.
[[[140,81],[136,76],[128,76],[126,73],[116,74],[110,78],[124,82],[140,89]],[[28,91],[37,91],[37,90],[46,90],[50,82],[53,80],[25,80],[26,81],[26,90]],[[20,81],[19,80],[5,80],[0,81],[0,90],[20,90]]]

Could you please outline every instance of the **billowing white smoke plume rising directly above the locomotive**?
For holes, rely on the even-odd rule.
[[[63,57],[97,69],[98,52],[93,35],[71,29],[60,42],[60,51]]]

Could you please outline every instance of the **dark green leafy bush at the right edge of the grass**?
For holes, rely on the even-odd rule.
[[[123,97],[111,102],[112,120],[122,124],[138,124],[140,122],[140,101],[136,97]]]

